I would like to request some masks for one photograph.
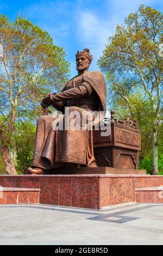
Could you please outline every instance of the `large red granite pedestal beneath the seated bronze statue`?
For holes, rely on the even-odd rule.
[[[135,189],[163,185],[161,175],[0,175],[0,185],[39,188],[40,203],[101,209],[135,202]],[[136,192],[137,193],[137,192]]]

